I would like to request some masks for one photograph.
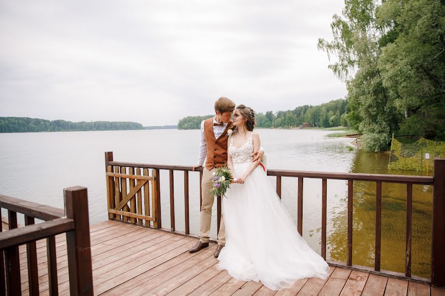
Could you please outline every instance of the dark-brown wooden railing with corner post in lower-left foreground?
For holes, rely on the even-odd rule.
[[[66,233],[71,295],[93,295],[87,188],[66,188],[64,195],[65,211],[0,195],[0,210],[7,209],[9,225],[8,231],[0,227],[0,295],[21,295],[19,246],[24,244],[29,295],[39,295],[40,239],[46,239],[49,295],[58,295],[55,235],[60,233]],[[17,213],[24,214],[24,227],[17,227]],[[35,219],[45,222],[35,224]]]

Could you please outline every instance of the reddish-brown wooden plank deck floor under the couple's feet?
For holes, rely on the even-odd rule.
[[[196,238],[117,221],[90,227],[94,295],[409,295],[445,296],[445,290],[333,267],[327,280],[303,279],[271,291],[215,268],[215,244],[190,254]],[[56,236],[59,295],[69,295],[65,235]],[[37,242],[40,295],[49,295],[45,241]],[[26,247],[20,247],[22,295],[29,295]]]

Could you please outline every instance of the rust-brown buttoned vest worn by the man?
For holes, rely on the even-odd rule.
[[[230,120],[225,127],[225,130],[218,139],[215,139],[213,133],[213,118],[204,121],[204,136],[206,137],[207,146],[207,160],[206,168],[219,168],[227,162],[227,130],[232,126]]]

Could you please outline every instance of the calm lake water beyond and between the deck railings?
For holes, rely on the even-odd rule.
[[[388,171],[388,153],[350,151],[333,131],[258,129],[270,169],[415,175]],[[90,223],[107,220],[104,152],[114,160],[194,165],[199,130],[0,134],[0,193],[63,208],[63,188],[88,187]],[[168,171],[161,171],[162,226],[170,228]],[[199,233],[199,174],[189,173],[190,232]],[[269,177],[275,186],[275,178]],[[347,182],[327,182],[327,257],[346,262]],[[183,173],[175,172],[176,228],[184,231]],[[282,202],[297,221],[297,179],[282,178]],[[406,185],[382,186],[381,268],[404,272]],[[211,236],[216,237],[216,203]],[[412,274],[430,277],[432,186],[413,185]],[[2,217],[7,217],[2,210]],[[375,183],[354,183],[353,263],[374,266]],[[23,223],[23,216],[19,217]],[[303,237],[320,253],[321,180],[304,180]]]

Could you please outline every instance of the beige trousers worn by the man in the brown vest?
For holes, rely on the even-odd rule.
[[[215,197],[210,195],[212,189],[212,173],[215,168],[208,170],[206,167],[202,173],[202,207],[201,214],[199,216],[199,240],[203,243],[207,243],[210,239],[210,223],[212,221],[212,206],[215,201]],[[221,211],[220,231],[218,232],[218,244],[225,245],[225,226],[223,219],[223,211]]]

